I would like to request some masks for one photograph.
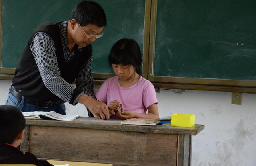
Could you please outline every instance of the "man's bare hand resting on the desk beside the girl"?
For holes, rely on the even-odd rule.
[[[77,102],[86,105],[96,118],[109,119],[110,117],[108,107],[105,103],[95,100],[86,94],[80,96]]]

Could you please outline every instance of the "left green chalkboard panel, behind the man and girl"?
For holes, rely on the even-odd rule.
[[[16,68],[22,50],[32,31],[43,22],[70,19],[74,6],[81,0],[2,0],[1,68]],[[105,10],[108,25],[104,37],[95,41],[93,66],[95,73],[112,73],[108,54],[121,38],[135,39],[144,46],[145,0],[95,0]]]

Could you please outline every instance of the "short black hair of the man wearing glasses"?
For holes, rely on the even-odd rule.
[[[72,19],[75,19],[81,26],[86,26],[89,23],[98,27],[107,25],[107,18],[103,8],[93,1],[83,0],[79,2],[72,10]]]

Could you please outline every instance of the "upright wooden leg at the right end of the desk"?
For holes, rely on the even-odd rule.
[[[190,166],[190,136],[178,135],[177,166]]]

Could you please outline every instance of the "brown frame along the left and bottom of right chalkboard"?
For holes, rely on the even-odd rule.
[[[148,80],[154,82],[158,88],[212,90],[228,92],[256,93],[256,81],[251,80],[224,80],[211,78],[182,78],[154,75],[154,59],[156,47],[157,0],[152,0],[150,21],[150,50]]]

